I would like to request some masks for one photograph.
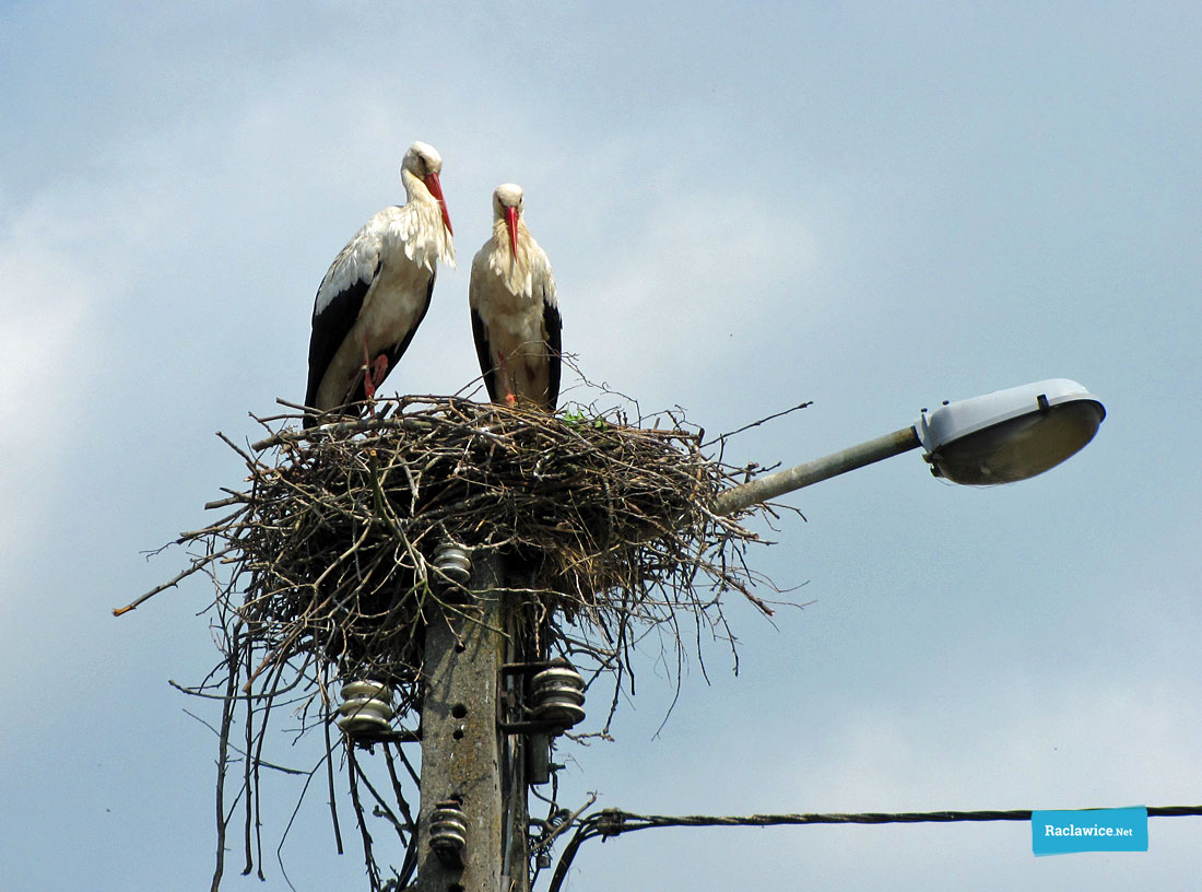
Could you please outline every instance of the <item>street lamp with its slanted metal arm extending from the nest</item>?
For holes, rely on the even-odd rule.
[[[714,513],[756,503],[918,448],[936,477],[989,486],[1034,477],[1078,452],[1106,417],[1101,402],[1076,381],[1036,381],[945,402],[914,424],[825,458],[769,474],[721,493]]]

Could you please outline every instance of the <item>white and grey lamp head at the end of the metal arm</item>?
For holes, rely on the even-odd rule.
[[[914,429],[936,477],[989,486],[1054,468],[1093,440],[1105,417],[1097,397],[1054,377],[923,409]]]

